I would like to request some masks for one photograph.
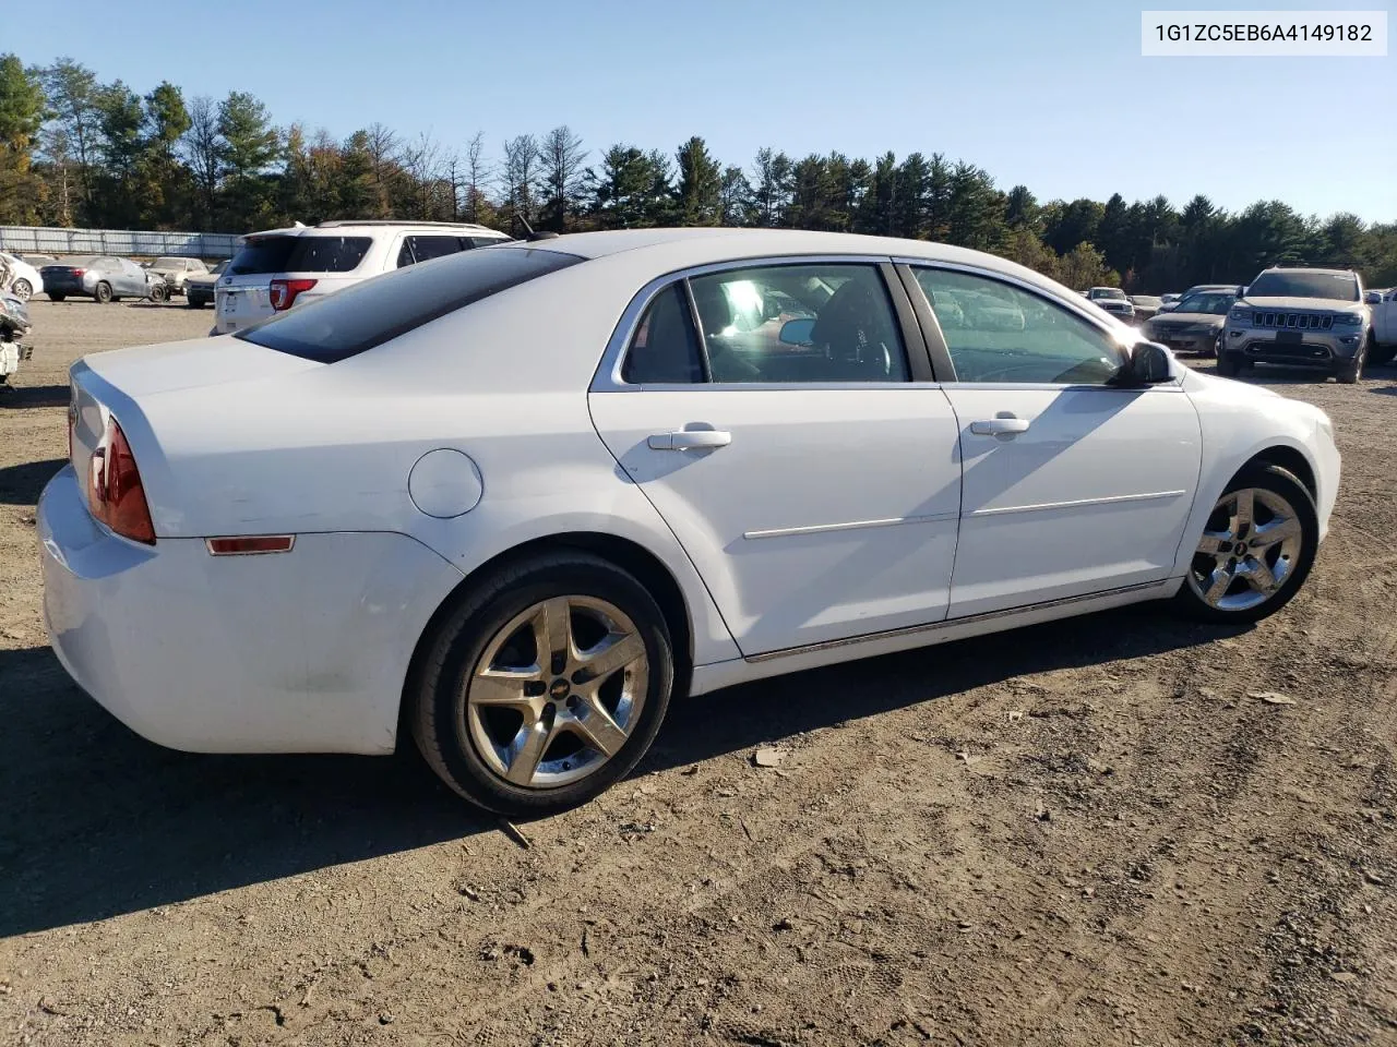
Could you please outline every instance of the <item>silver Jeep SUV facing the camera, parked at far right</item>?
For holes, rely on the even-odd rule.
[[[1218,374],[1255,363],[1324,367],[1355,383],[1372,345],[1372,314],[1352,269],[1273,265],[1227,314]]]

